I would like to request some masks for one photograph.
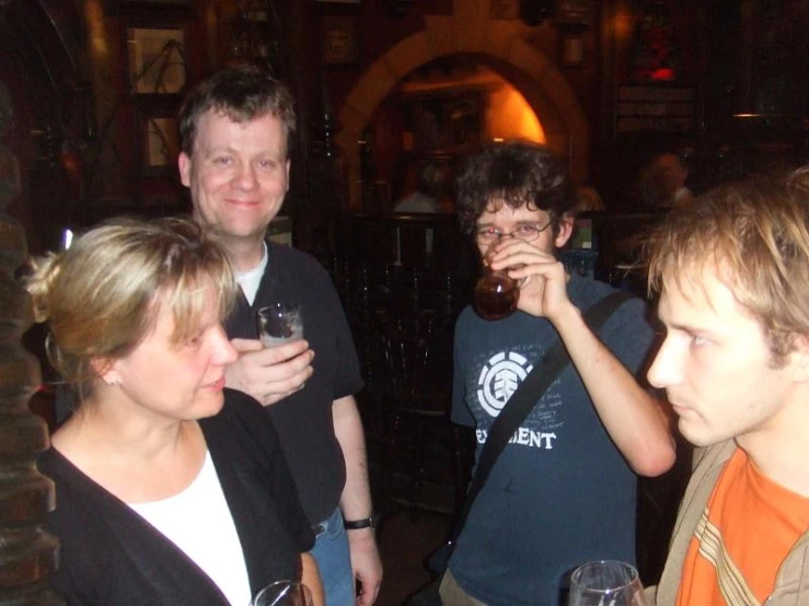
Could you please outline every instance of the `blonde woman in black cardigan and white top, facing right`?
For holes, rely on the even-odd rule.
[[[56,483],[68,604],[246,606],[300,579],[323,604],[312,528],[271,421],[224,389],[224,254],[183,220],[119,220],[27,280],[79,406],[39,469]]]

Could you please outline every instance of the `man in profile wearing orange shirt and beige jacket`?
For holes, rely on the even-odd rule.
[[[671,213],[649,369],[698,448],[657,606],[809,604],[809,171]]]

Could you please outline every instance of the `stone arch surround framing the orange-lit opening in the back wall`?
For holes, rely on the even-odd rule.
[[[337,143],[348,164],[349,205],[359,206],[359,149],[357,141],[377,106],[411,71],[438,57],[474,54],[506,65],[523,78],[519,84],[542,123],[547,144],[567,158],[570,174],[587,175],[589,133],[587,119],[565,77],[535,47],[524,42],[517,21],[488,19],[489,0],[455,0],[452,15],[428,15],[426,27],[401,40],[360,77],[339,109]]]

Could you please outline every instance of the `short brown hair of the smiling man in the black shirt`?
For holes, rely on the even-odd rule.
[[[188,155],[194,153],[199,118],[209,109],[221,112],[235,123],[271,114],[284,126],[289,151],[296,130],[292,94],[268,71],[246,63],[223,68],[188,93],[180,108],[181,149]]]

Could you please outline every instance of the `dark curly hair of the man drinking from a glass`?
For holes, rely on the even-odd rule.
[[[455,208],[461,228],[472,233],[490,203],[528,206],[551,215],[553,233],[575,208],[573,187],[564,170],[539,143],[490,142],[466,159],[455,180]]]

